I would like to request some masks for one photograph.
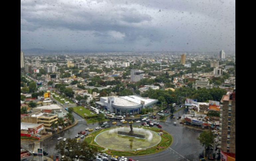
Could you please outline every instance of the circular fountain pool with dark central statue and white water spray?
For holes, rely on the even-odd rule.
[[[161,136],[149,129],[142,127],[117,127],[99,133],[95,142],[107,149],[113,150],[141,150],[157,145]]]

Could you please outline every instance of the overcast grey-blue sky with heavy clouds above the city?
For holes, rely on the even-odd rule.
[[[234,0],[21,0],[21,49],[235,52]]]

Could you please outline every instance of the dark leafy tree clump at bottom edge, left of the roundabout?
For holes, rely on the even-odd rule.
[[[72,151],[65,152],[66,146],[68,149],[72,149]],[[97,152],[97,148],[95,146],[89,146],[86,141],[77,142],[75,138],[68,138],[66,141],[62,140],[58,142],[55,146],[55,150],[57,150],[62,156],[65,156],[64,158],[66,161],[71,161],[76,155],[82,155],[86,160],[90,160],[93,159],[93,154]]]

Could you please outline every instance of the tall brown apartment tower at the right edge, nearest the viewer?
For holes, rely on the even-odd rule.
[[[235,90],[224,95],[220,101],[219,144],[223,155],[235,154]]]

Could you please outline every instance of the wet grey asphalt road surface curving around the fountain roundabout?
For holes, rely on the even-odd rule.
[[[180,111],[180,116],[184,113],[184,110]],[[58,137],[63,138],[74,138],[77,132],[81,130],[85,130],[86,127],[94,128],[100,126],[101,123],[94,123],[87,125],[86,121],[84,121],[80,116],[74,114],[74,118],[78,120],[76,126],[67,129],[59,134],[54,135],[51,138],[48,138],[41,142],[40,147],[43,147],[45,151],[49,153],[49,156],[55,156],[56,151],[54,150],[56,143],[58,142]],[[174,114],[176,118],[179,113]],[[158,121],[159,122],[159,121]],[[177,125],[174,125],[173,122],[177,122]],[[111,121],[109,122],[111,124]],[[166,130],[173,136],[173,144],[166,150],[145,156],[137,156],[137,157],[127,157],[133,158],[139,161],[198,161],[199,153],[203,151],[203,147],[200,145],[199,141],[196,139],[201,131],[196,129],[191,129],[184,127],[179,123],[177,119],[167,119],[167,122],[159,122],[163,126],[163,130]],[[135,123],[135,125],[139,125],[140,123]],[[128,125],[128,124],[127,124]],[[90,133],[90,132],[89,132]],[[79,159],[80,160],[80,159]],[[109,159],[110,160],[110,159]]]

